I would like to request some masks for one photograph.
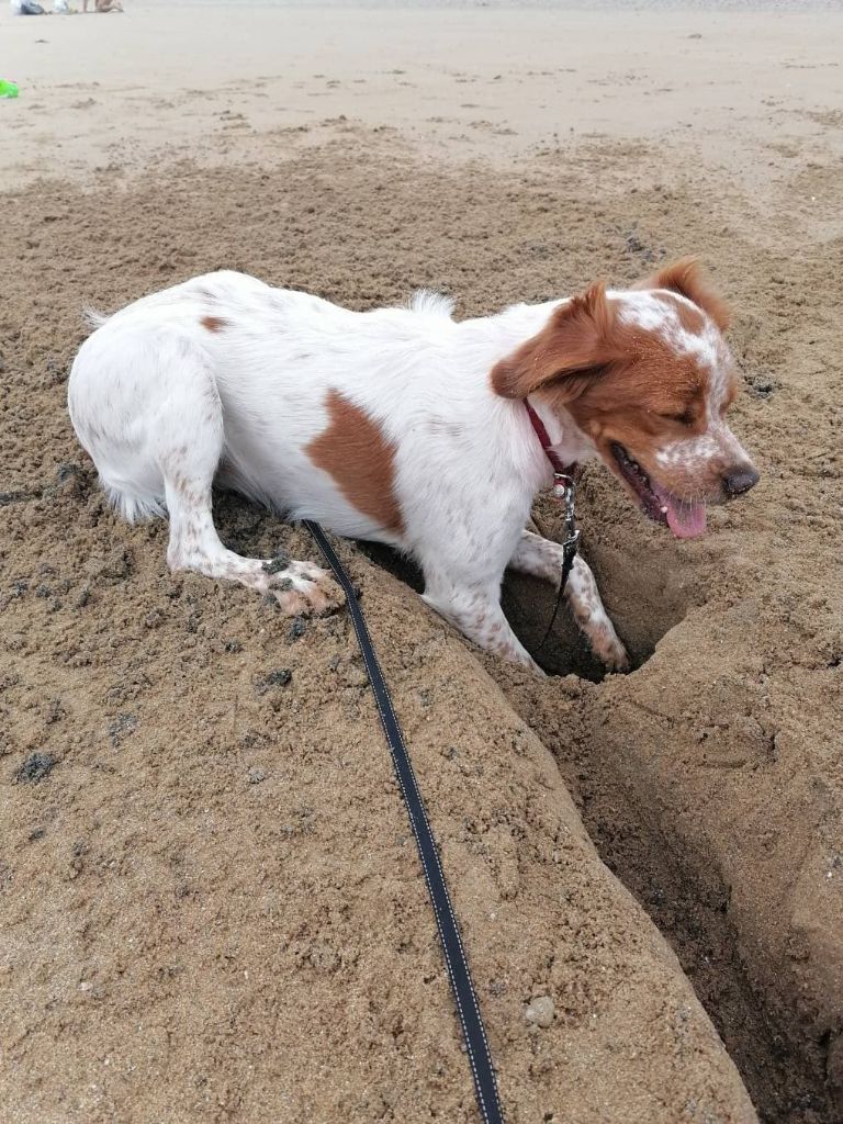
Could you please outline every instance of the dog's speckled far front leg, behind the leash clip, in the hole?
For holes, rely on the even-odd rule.
[[[532,573],[536,578],[544,578],[559,586],[563,558],[564,553],[559,543],[525,531],[509,560],[509,565],[513,570]],[[564,596],[598,660],[609,671],[628,671],[629,656],[604,608],[595,575],[588,563],[579,555],[573,560]]]

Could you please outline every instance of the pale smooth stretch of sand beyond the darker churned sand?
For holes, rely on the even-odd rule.
[[[97,19],[0,7],[0,69],[22,89],[0,184],[132,174],[184,148],[264,164],[343,119],[398,130],[425,156],[508,162],[668,139],[677,166],[701,156],[747,192],[787,178],[795,152],[843,154],[843,12],[810,2],[799,15],[128,7]]]

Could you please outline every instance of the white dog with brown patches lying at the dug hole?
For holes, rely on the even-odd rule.
[[[500,587],[507,566],[559,583],[561,545],[525,529],[553,480],[549,457],[600,459],[679,537],[705,531],[707,502],[758,481],[725,420],[738,383],[727,310],[692,259],[624,291],[596,283],[462,321],[453,308],[423,290],[408,307],[355,312],[209,273],[90,314],[71,419],[127,519],[169,514],[172,570],[238,581],[289,615],[342,602],[310,562],[229,551],[214,525],[216,481],[410,554],[429,606],[538,671]],[[565,598],[607,670],[628,669],[579,556]]]

